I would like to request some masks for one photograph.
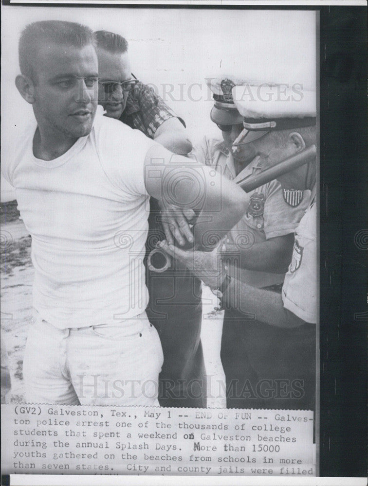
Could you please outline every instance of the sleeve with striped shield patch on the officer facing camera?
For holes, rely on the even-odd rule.
[[[303,191],[300,203],[293,207],[284,198],[280,183],[276,180],[268,184],[264,206],[264,233],[267,240],[294,233],[299,221],[310,203],[311,191]]]

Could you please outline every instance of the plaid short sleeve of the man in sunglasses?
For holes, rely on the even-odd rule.
[[[169,118],[178,118],[185,127],[184,120],[176,115],[152,87],[142,84],[140,89],[135,90],[134,97],[139,104],[148,137],[153,138],[156,130]]]

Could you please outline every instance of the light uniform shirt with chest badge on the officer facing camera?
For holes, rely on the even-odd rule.
[[[256,157],[238,175],[236,163],[223,142],[217,139],[204,138],[190,156],[205,165],[210,165],[228,179],[235,182],[248,175],[261,172],[259,158]],[[262,243],[270,238],[294,233],[306,208],[310,203],[311,191],[301,191],[301,200],[296,206],[287,202],[284,191],[278,181],[273,180],[255,191],[249,192],[250,203],[247,211],[236,226],[227,234],[225,246],[231,258],[228,273],[253,287],[268,287],[281,284],[284,274],[261,272],[239,268],[241,248],[250,248],[253,244]],[[233,251],[234,250],[234,251]]]

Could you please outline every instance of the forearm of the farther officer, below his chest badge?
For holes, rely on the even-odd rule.
[[[292,258],[293,243],[294,234],[290,233],[254,243],[249,248],[242,247],[241,244],[226,244],[225,255],[236,259],[239,256],[240,266],[248,270],[285,273]]]

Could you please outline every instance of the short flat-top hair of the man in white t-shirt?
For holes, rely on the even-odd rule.
[[[96,44],[92,29],[76,22],[41,20],[27,25],[19,38],[19,67],[23,76],[34,82],[37,81],[34,68],[37,50],[45,41],[77,48]]]

